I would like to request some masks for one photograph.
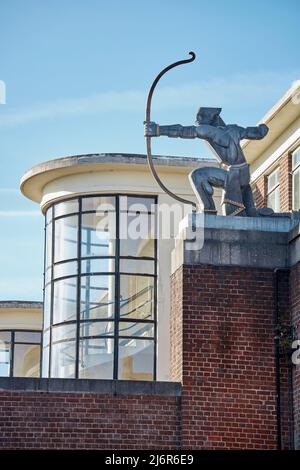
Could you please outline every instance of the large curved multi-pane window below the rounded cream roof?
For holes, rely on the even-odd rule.
[[[43,377],[155,380],[156,198],[46,212]]]

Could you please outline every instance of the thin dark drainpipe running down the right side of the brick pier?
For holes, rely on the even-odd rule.
[[[276,381],[276,424],[277,424],[277,450],[282,450],[281,440],[281,391],[280,391],[280,315],[278,308],[278,276],[279,272],[289,272],[288,268],[273,270],[273,305],[274,305],[274,346],[275,346],[275,381]]]

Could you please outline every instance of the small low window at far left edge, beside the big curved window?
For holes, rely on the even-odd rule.
[[[0,377],[39,377],[41,332],[0,331]]]

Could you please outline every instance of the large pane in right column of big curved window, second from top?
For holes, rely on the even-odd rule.
[[[154,257],[154,215],[120,214],[120,255]]]

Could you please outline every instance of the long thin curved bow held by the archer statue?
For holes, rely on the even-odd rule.
[[[154,89],[156,87],[156,85],[158,84],[159,80],[161,79],[161,77],[166,73],[168,72],[169,70],[173,69],[174,67],[177,67],[177,65],[182,65],[182,64],[188,64],[189,62],[193,62],[196,58],[196,54],[194,52],[189,52],[189,54],[192,56],[190,59],[185,59],[185,60],[179,60],[178,62],[174,62],[174,64],[171,64],[171,65],[168,65],[168,67],[164,68],[156,77],[156,79],[154,80],[154,82],[152,83],[151,85],[151,88],[149,90],[149,93],[148,93],[148,98],[147,98],[147,106],[146,106],[146,122],[149,122],[151,121],[151,101],[152,101],[152,95],[153,95],[153,92],[154,92]],[[151,154],[151,137],[148,137],[146,136],[146,144],[147,144],[147,160],[148,160],[148,164],[149,164],[149,167],[150,167],[150,170],[151,170],[151,173],[153,175],[153,177],[155,178],[156,182],[158,183],[158,185],[161,187],[161,189],[167,193],[169,196],[171,196],[172,198],[176,199],[177,201],[179,202],[182,202],[184,204],[191,204],[192,206],[196,207],[196,204],[192,201],[189,201],[188,199],[184,199],[180,196],[177,196],[176,194],[174,194],[172,191],[170,191],[165,185],[164,183],[161,181],[161,179],[159,178],[156,170],[155,170],[155,166],[154,166],[154,163],[153,163],[153,159],[152,159],[152,154]]]

